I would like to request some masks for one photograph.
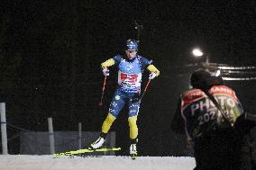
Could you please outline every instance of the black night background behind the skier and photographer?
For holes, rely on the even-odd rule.
[[[26,130],[100,131],[116,85],[107,79],[104,105],[98,106],[104,76],[100,63],[123,52],[137,38],[139,53],[160,69],[146,92],[138,120],[142,156],[183,155],[184,136],[170,131],[178,96],[188,88],[189,64],[204,62],[190,51],[201,47],[210,62],[255,66],[255,1],[45,1],[10,0],[0,5],[0,94],[7,122]],[[188,67],[190,66],[190,67]],[[148,72],[144,72],[142,89]],[[236,75],[243,76],[243,75]],[[254,73],[255,76],[255,73]],[[246,112],[255,112],[255,80],[225,81]],[[129,147],[127,108],[114,122],[116,144]],[[8,128],[8,137],[18,130]],[[126,150],[119,153],[127,154]],[[19,153],[19,140],[9,142]]]

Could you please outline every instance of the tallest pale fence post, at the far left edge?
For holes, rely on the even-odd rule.
[[[0,103],[0,114],[1,114],[1,134],[2,134],[3,155],[7,155],[8,147],[7,147],[7,132],[6,132],[6,118],[5,118],[5,103]]]

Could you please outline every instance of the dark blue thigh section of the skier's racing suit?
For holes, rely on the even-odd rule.
[[[141,103],[139,93],[125,93],[120,89],[117,89],[114,93],[109,112],[116,118],[126,102],[129,105],[129,117],[137,116]]]

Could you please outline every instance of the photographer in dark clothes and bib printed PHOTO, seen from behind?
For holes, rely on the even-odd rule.
[[[186,133],[194,148],[195,170],[239,169],[241,143],[233,126],[243,113],[242,104],[222,77],[206,70],[195,71],[190,84],[193,89],[180,95],[171,126]]]

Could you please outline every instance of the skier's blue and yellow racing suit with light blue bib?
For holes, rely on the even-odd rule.
[[[137,138],[138,128],[136,121],[140,109],[142,71],[144,68],[147,68],[149,71],[154,72],[156,76],[160,75],[160,71],[151,63],[151,60],[140,55],[136,55],[133,60],[117,55],[101,64],[101,67],[111,67],[114,65],[118,67],[118,86],[110,103],[107,118],[103,123],[102,132],[108,132],[115,118],[123,109],[124,103],[128,102],[130,138]]]

